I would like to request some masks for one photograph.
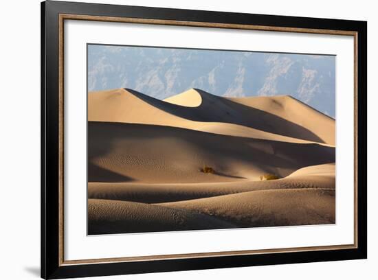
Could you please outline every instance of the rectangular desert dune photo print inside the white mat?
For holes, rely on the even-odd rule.
[[[335,223],[335,56],[87,45],[88,233]]]

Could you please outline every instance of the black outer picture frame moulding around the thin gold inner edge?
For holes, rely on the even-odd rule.
[[[60,170],[60,122],[59,110],[59,21],[60,14],[86,16],[128,17],[164,21],[195,23],[219,23],[224,25],[254,25],[255,27],[280,27],[304,30],[334,30],[355,32],[357,39],[357,64],[355,89],[357,119],[355,193],[358,233],[355,248],[338,250],[298,250],[282,253],[251,255],[223,255],[208,257],[181,257],[171,259],[114,261],[106,263],[65,264],[61,257],[61,224],[59,182]],[[285,30],[284,30],[285,31]],[[209,268],[232,268],[293,264],[313,261],[335,261],[367,258],[367,23],[340,19],[315,19],[295,16],[272,16],[201,10],[177,10],[146,8],[126,5],[104,5],[45,1],[41,3],[41,277],[59,279],[69,277],[92,277],[146,272],[177,270],[201,270]],[[85,202],[83,202],[85,203]]]

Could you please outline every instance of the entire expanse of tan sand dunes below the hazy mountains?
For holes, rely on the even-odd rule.
[[[117,89],[88,116],[89,234],[335,223],[335,120],[289,95]]]

